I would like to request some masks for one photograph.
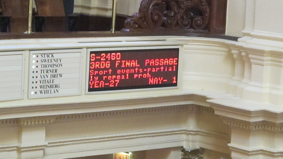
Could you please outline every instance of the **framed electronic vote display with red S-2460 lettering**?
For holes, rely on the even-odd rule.
[[[86,94],[177,88],[179,46],[88,49]]]

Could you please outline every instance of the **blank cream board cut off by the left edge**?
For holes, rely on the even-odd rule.
[[[23,99],[25,51],[0,52],[0,101]]]

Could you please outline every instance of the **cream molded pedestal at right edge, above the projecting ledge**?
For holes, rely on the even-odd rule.
[[[255,48],[246,48],[246,50],[250,59],[250,68],[245,68],[245,76],[246,70],[250,69],[250,81],[243,90],[243,99],[261,103],[283,104],[282,51]],[[249,73],[247,72],[247,74]]]

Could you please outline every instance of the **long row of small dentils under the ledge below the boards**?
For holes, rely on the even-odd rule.
[[[156,113],[170,113],[170,112],[187,112],[187,113],[207,113],[214,114],[214,110],[209,107],[199,106],[196,104],[185,104],[175,106],[163,106],[153,108],[139,108],[139,109],[123,109],[114,111],[100,111],[92,113],[77,113],[77,114],[63,114],[51,116],[38,117],[24,117],[17,119],[3,119],[0,120],[0,126],[33,126],[40,124],[48,124],[54,122],[67,122],[76,120],[90,120],[95,118],[112,118],[129,115],[144,115]]]

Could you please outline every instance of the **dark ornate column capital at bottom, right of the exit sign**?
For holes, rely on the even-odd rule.
[[[204,149],[199,148],[199,149],[186,149],[182,148],[181,149],[181,159],[203,159],[203,154]]]

